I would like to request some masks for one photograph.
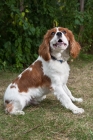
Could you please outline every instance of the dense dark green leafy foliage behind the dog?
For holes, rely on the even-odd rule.
[[[84,0],[83,0],[84,1]],[[45,32],[53,26],[73,31],[84,53],[93,54],[93,0],[0,1],[0,69],[20,70],[38,56]]]

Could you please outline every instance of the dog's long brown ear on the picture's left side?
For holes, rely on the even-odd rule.
[[[44,36],[43,42],[39,47],[39,55],[42,56],[45,61],[49,61],[51,59],[48,32]]]

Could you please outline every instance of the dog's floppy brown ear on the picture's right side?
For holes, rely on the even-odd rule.
[[[70,54],[73,58],[76,58],[80,52],[81,46],[75,40],[73,33],[70,31]]]

